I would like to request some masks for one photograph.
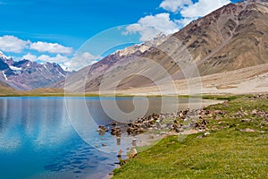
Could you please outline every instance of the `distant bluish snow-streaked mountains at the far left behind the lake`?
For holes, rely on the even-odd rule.
[[[14,90],[46,88],[65,79],[66,73],[59,64],[14,61],[0,52],[0,81]]]

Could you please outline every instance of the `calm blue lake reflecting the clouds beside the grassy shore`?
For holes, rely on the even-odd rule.
[[[178,98],[0,98],[0,178],[104,178],[117,166],[119,149],[126,153],[131,147],[132,138],[123,134],[119,144],[110,133],[96,132],[98,125],[113,119],[128,123],[138,115],[175,112],[188,104],[197,108],[199,102]],[[210,103],[205,101],[202,106]]]

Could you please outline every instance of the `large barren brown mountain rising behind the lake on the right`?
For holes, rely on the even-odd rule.
[[[70,75],[65,85],[71,91],[131,89],[267,62],[268,3],[247,0],[192,21],[163,43],[108,55]]]

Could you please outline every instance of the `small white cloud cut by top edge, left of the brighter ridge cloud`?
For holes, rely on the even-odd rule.
[[[166,11],[177,13],[190,4],[193,4],[191,0],[164,0],[159,6]]]

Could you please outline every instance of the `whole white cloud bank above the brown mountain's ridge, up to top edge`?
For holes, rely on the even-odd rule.
[[[160,32],[171,34],[183,28],[190,21],[197,20],[229,3],[230,0],[199,0],[196,3],[193,3],[192,0],[163,0],[159,6],[168,12],[180,13],[180,19],[171,20],[170,13],[147,15],[139,19],[137,23],[129,25],[125,34],[139,33],[141,41],[153,38]]]

